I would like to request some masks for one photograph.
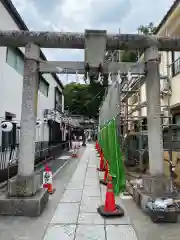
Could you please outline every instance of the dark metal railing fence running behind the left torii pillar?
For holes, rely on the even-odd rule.
[[[47,145],[43,142],[37,142],[35,146],[35,165],[60,156],[63,151],[69,148],[69,142],[54,143]],[[0,146],[0,182],[3,182],[17,174],[19,159],[19,144],[8,147]],[[9,176],[8,176],[9,175]]]

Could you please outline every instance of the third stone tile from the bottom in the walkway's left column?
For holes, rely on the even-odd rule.
[[[82,196],[82,190],[69,190],[66,189],[60,202],[75,203],[80,202]]]

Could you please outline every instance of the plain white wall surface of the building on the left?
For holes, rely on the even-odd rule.
[[[7,10],[0,2],[0,30],[19,30]],[[22,49],[24,52],[24,49]],[[54,87],[57,86],[52,75],[45,74],[44,78],[49,83],[49,94],[45,97],[38,93],[37,116],[43,120],[44,109],[54,108]],[[5,111],[16,115],[17,121],[21,119],[21,102],[22,102],[23,77],[16,70],[6,63],[6,47],[0,48],[0,120],[5,117]],[[60,89],[61,90],[61,89]],[[62,99],[64,103],[64,99]],[[64,110],[64,106],[63,106]],[[42,131],[42,129],[40,130]],[[36,140],[39,140],[39,134],[36,134]],[[48,140],[48,128],[45,126],[44,137],[40,139]],[[1,132],[0,132],[1,145]]]

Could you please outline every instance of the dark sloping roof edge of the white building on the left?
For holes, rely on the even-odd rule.
[[[15,8],[15,6],[13,5],[11,0],[0,0],[1,3],[3,4],[3,6],[6,8],[6,10],[8,11],[8,13],[10,14],[10,16],[12,17],[12,19],[14,20],[14,22],[16,23],[16,25],[18,26],[18,28],[20,30],[23,31],[29,31],[27,25],[25,24],[25,22],[23,21],[22,17],[20,16],[20,14],[18,13],[17,9]],[[40,51],[40,57],[42,58],[42,60],[46,61],[47,58],[45,57],[44,53],[42,51]],[[51,74],[52,77],[56,80],[57,84],[64,89],[64,86],[61,82],[61,80],[58,78],[58,76],[55,73]]]

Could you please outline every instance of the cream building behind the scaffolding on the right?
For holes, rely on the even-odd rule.
[[[155,34],[159,37],[179,37],[180,0],[174,1],[173,5],[158,25]],[[140,57],[139,61],[144,61],[144,55]],[[165,172],[166,174],[169,174],[169,156],[172,156],[172,162],[174,165],[177,163],[179,164],[178,159],[180,159],[180,51],[159,52],[159,61],[160,114],[163,126],[164,159],[168,160],[165,161]],[[142,144],[144,138],[142,138],[142,136],[147,136],[147,132],[144,131],[147,130],[146,82],[143,81],[143,77],[137,77],[137,79],[137,81],[132,81],[132,84],[129,83],[128,90],[136,90],[136,92],[132,94],[131,91],[128,95],[126,124],[128,123],[127,129],[131,132],[129,136],[141,136],[141,147],[140,143],[138,143],[135,150],[141,148],[138,151],[143,154],[144,147]],[[143,121],[140,121],[142,119]],[[170,126],[172,131],[169,131]]]

